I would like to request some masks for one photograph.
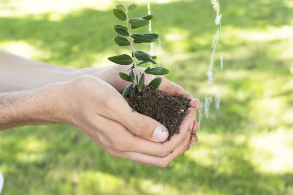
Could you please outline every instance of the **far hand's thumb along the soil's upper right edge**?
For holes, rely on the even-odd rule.
[[[163,77],[162,77],[163,78]],[[161,85],[158,88],[160,91],[162,91],[164,94],[169,94],[170,96],[179,96],[182,95],[184,98],[187,99],[194,99],[192,96],[190,96],[180,85],[177,85],[176,83],[171,82],[167,78],[163,78]]]

